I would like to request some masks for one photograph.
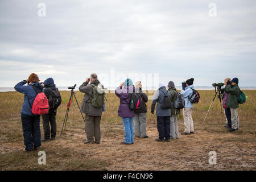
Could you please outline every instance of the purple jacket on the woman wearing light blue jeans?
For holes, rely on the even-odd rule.
[[[135,92],[134,86],[118,86],[117,89],[115,89],[115,95],[120,98],[120,105],[118,108],[118,116],[122,118],[131,118],[134,117],[134,111],[129,108],[127,103],[130,102],[131,98],[127,98],[129,96],[129,92],[133,93]],[[126,103],[126,102],[127,103]]]

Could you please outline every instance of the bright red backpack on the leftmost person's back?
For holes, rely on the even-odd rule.
[[[36,98],[34,100],[32,107],[30,105],[32,113],[35,115],[48,114],[49,113],[49,104],[48,104],[48,99],[46,97],[46,94],[44,94],[44,92],[39,92],[35,86],[33,86],[33,85],[31,85],[31,86],[36,91],[36,93],[38,93],[36,95]],[[28,104],[30,104],[29,101],[28,101]]]

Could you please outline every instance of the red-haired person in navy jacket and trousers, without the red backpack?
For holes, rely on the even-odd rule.
[[[27,80],[23,80],[15,85],[14,89],[24,94],[21,120],[26,151],[38,150],[41,146],[40,115],[32,113],[35,98],[38,92],[43,91],[43,85],[39,83],[38,75],[31,73]],[[29,85],[25,85],[25,84]],[[48,101],[47,101],[48,102]]]

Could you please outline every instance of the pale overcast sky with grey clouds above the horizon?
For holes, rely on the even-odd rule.
[[[105,86],[129,73],[156,73],[176,86],[191,77],[195,86],[226,77],[256,86],[255,17],[256,1],[246,0],[1,0],[0,86],[32,72],[57,86],[80,85],[91,73]]]

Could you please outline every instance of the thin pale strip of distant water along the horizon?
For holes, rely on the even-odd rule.
[[[57,88],[59,90],[70,90],[68,89],[68,86],[57,86]],[[181,86],[177,86],[176,87],[177,90],[181,90]],[[256,90],[256,87],[255,86],[242,86],[240,87],[241,90]],[[115,90],[115,88],[108,88],[109,90]],[[150,88],[143,88],[143,90],[156,90],[158,88],[153,88],[153,87],[150,87]],[[208,87],[208,86],[195,86],[195,89],[196,90],[214,90],[214,87]],[[75,91],[79,90],[79,87],[77,86]],[[13,87],[0,87],[0,92],[14,92],[15,89]]]

